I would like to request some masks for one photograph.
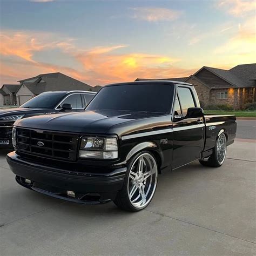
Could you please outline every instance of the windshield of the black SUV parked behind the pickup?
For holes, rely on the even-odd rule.
[[[26,107],[29,109],[53,109],[64,95],[65,93],[41,93],[19,107]]]

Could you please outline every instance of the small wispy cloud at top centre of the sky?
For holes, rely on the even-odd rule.
[[[134,11],[132,18],[149,22],[173,21],[183,14],[182,11],[167,8],[136,7],[131,9]]]

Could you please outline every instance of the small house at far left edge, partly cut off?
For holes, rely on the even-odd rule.
[[[3,84],[0,89],[0,105],[16,105],[16,91],[19,84]]]

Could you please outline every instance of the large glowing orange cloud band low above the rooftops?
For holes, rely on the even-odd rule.
[[[98,46],[89,50],[79,49],[73,39],[57,41],[50,33],[3,31],[1,35],[0,76],[3,83],[39,73],[63,72],[91,85],[131,81],[137,77],[161,78],[191,75],[194,70],[174,68],[178,59],[146,53],[122,53],[127,45]],[[52,65],[37,61],[35,53],[59,49],[73,58],[79,70],[72,66]],[[4,57],[4,59],[3,59]],[[47,62],[47,60],[46,60]],[[69,63],[68,63],[69,64]]]

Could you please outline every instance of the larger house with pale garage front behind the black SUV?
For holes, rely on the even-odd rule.
[[[20,83],[16,91],[18,105],[45,91],[93,90],[92,86],[60,72],[41,74],[18,82]]]

